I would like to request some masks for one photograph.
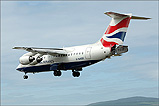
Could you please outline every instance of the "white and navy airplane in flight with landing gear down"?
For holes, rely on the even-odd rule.
[[[61,76],[61,70],[72,70],[73,77],[79,77],[84,67],[128,52],[128,46],[123,45],[123,42],[131,19],[151,19],[116,12],[104,14],[112,20],[96,43],[66,48],[13,47],[27,51],[19,58],[20,64],[16,70],[25,73],[24,79],[28,79],[27,73],[46,71],[52,71],[54,76]]]

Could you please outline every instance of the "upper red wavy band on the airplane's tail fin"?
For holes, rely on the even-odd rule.
[[[105,34],[110,34],[112,32],[114,32],[115,30],[119,29],[119,28],[123,28],[123,27],[128,27],[129,22],[130,22],[130,18],[131,17],[127,17],[125,19],[123,19],[122,21],[120,21],[117,25],[115,26],[108,26]]]

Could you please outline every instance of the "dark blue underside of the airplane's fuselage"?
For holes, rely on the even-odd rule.
[[[17,70],[22,72],[43,72],[43,71],[52,71],[52,70],[72,70],[81,67],[86,67],[91,64],[97,63],[100,60],[89,60],[89,61],[80,61],[80,62],[70,62],[70,63],[55,63],[47,64],[40,66],[31,66],[18,68]]]

